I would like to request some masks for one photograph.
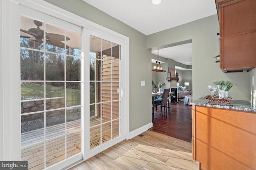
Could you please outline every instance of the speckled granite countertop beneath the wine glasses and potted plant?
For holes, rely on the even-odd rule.
[[[256,113],[256,106],[245,100],[231,100],[229,104],[226,104],[220,102],[207,102],[205,98],[199,98],[191,102],[191,104],[196,106],[217,107],[222,109],[254,111]]]

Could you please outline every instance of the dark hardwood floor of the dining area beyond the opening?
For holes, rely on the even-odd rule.
[[[161,107],[158,106],[152,122],[153,127],[149,130],[191,142],[191,106],[184,105],[184,101],[171,104],[171,109],[169,111],[167,108],[167,112],[163,107],[163,115]]]

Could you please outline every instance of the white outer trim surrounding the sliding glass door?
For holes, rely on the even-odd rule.
[[[10,72],[10,65],[12,59],[10,58],[12,54],[12,49],[10,44],[12,43],[10,40],[10,14],[12,10],[10,9],[10,3],[26,6],[28,8],[37,9],[38,12],[47,14],[49,16],[53,16],[54,18],[60,18],[66,22],[70,22],[82,27],[86,27],[90,30],[97,31],[108,37],[113,37],[115,39],[119,39],[124,42],[124,54],[122,56],[122,67],[125,67],[126,74],[124,76],[126,83],[122,84],[124,90],[124,97],[122,102],[126,103],[126,108],[122,108],[125,111],[123,115],[123,119],[125,122],[125,134],[123,134],[126,139],[129,137],[129,38],[121,35],[120,33],[116,33],[110,29],[107,29],[101,25],[93,23],[92,21],[86,20],[76,14],[68,12],[62,8],[54,6],[44,0],[0,0],[0,160],[20,160],[20,141],[14,141],[12,135],[12,131],[14,131],[11,127],[12,113],[13,109],[12,96],[13,93],[16,93],[17,90],[13,90],[10,88],[10,84],[13,83],[13,79],[16,77],[12,77]],[[6,57],[8,56],[8,57]],[[19,80],[19,78],[18,78]],[[18,89],[19,90],[19,89]],[[18,92],[19,93],[19,92]],[[20,99],[18,99],[20,100]],[[16,108],[20,109],[20,108]],[[18,145],[17,145],[18,143]],[[18,149],[18,150],[17,150]]]

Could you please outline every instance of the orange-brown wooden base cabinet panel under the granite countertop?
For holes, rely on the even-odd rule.
[[[256,112],[192,106],[192,156],[201,170],[255,170]]]

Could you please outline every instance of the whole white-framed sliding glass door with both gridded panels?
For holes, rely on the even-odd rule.
[[[45,1],[0,4],[1,157],[63,169],[124,140],[129,39]]]

